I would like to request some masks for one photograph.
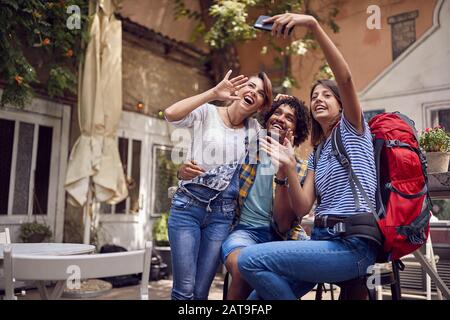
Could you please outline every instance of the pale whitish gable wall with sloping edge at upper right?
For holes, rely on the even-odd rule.
[[[441,3],[441,1],[439,2]],[[361,94],[367,110],[384,108],[431,125],[428,109],[450,108],[450,2],[436,8],[435,25]]]

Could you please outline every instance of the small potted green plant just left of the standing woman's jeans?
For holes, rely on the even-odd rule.
[[[172,274],[172,257],[169,243],[169,213],[164,212],[153,222],[153,241],[155,250],[167,264],[168,275]]]

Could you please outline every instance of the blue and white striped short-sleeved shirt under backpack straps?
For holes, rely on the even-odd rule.
[[[364,133],[359,134],[353,125],[344,118],[344,115],[340,121],[342,142],[350,157],[353,171],[375,206],[377,179],[370,128],[363,120]],[[330,137],[323,146],[315,170],[315,187],[321,196],[321,203],[316,207],[315,214],[349,215],[357,212],[370,212],[370,207],[359,191],[357,192],[360,208],[358,211],[356,210],[348,173],[332,154]],[[309,157],[308,169],[314,171],[314,151]]]

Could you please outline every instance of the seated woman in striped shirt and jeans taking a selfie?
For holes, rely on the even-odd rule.
[[[295,176],[292,145],[267,139],[262,147],[271,160],[288,172],[289,198],[295,214],[308,214],[316,200],[315,223],[310,241],[270,242],[245,248],[238,259],[239,271],[255,288],[251,298],[298,299],[317,283],[341,282],[366,275],[375,263],[378,245],[360,236],[341,232],[346,219],[366,217],[375,204],[376,170],[370,129],[364,120],[350,69],[342,54],[317,20],[308,15],[274,16],[272,34],[287,37],[294,27],[306,27],[315,36],[336,82],[322,80],[311,90],[312,141],[321,145],[313,152],[303,186]],[[366,198],[351,187],[348,172],[332,152],[331,133],[340,130],[343,146],[360,180]],[[371,215],[370,215],[371,216]],[[347,220],[348,222],[349,220]],[[376,225],[373,225],[376,227]]]

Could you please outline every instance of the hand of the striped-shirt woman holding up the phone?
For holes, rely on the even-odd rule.
[[[317,20],[313,16],[306,14],[283,13],[264,20],[264,23],[270,22],[273,22],[273,36],[287,38],[294,27],[303,26],[310,28],[317,23]]]

